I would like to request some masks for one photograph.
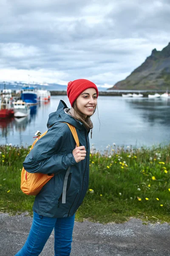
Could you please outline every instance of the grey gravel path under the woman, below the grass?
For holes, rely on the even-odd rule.
[[[0,256],[14,256],[23,246],[32,218],[26,213],[0,214]],[[40,256],[54,256],[54,233]],[[75,222],[71,256],[170,256],[170,225],[143,225],[131,218],[124,224]]]

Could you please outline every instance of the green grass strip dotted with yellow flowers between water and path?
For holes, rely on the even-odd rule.
[[[0,146],[0,212],[32,214],[34,196],[20,190],[29,148]],[[152,148],[91,148],[90,183],[76,218],[101,223],[130,217],[170,222],[170,145]]]

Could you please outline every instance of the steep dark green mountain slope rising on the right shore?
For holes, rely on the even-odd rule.
[[[125,80],[108,90],[170,90],[170,43],[152,54]]]

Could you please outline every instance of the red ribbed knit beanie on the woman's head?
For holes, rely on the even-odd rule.
[[[67,96],[71,104],[71,107],[73,107],[73,103],[78,98],[78,96],[88,88],[94,88],[96,90],[97,97],[99,96],[99,92],[96,87],[96,84],[94,84],[89,80],[77,79],[77,80],[68,82]]]

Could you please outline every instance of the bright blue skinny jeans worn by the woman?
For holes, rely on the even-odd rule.
[[[30,233],[23,248],[15,256],[38,256],[54,228],[55,256],[69,256],[75,215],[49,218],[34,212]]]

